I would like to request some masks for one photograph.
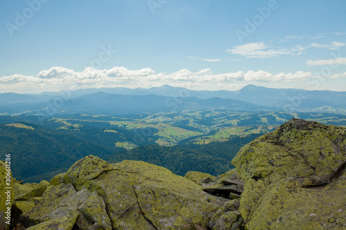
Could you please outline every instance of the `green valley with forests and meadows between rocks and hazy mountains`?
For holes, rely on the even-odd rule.
[[[345,126],[346,115],[241,111],[174,111],[109,116],[0,116],[1,157],[13,155],[13,175],[50,180],[86,155],[111,162],[142,160],[184,175],[232,169],[237,151],[291,117]],[[33,164],[32,162],[35,162]]]

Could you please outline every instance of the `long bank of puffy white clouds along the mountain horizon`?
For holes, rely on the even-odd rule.
[[[334,75],[334,78],[340,76]],[[0,77],[0,92],[39,93],[47,90],[120,86],[150,88],[163,84],[185,88],[193,87],[193,89],[210,88],[211,86],[214,88],[234,86],[236,88],[249,82],[298,82],[311,78],[314,78],[313,74],[302,71],[272,74],[259,70],[214,74],[210,68],[206,68],[197,72],[181,69],[167,74],[155,73],[151,68],[129,70],[125,67],[114,67],[109,70],[96,70],[89,67],[78,72],[69,68],[53,67],[49,70],[42,70],[36,77],[17,74]]]

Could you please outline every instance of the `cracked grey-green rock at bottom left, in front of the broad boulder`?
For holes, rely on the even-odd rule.
[[[19,216],[19,222],[34,229],[72,229],[79,215],[103,229],[111,229],[105,204],[97,193],[75,191],[72,184],[48,186],[42,201]],[[31,228],[28,228],[31,229]]]

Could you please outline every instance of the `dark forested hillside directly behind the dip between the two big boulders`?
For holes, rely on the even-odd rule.
[[[232,136],[225,142],[204,145],[188,143],[176,146],[140,146],[129,151],[114,153],[107,157],[107,160],[112,163],[122,160],[141,160],[163,166],[177,175],[185,175],[188,171],[220,175],[234,168],[230,161],[242,146],[258,136],[260,134],[246,137]]]

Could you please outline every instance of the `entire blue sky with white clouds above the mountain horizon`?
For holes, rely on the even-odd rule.
[[[164,84],[346,91],[346,1],[0,1],[0,93]]]

